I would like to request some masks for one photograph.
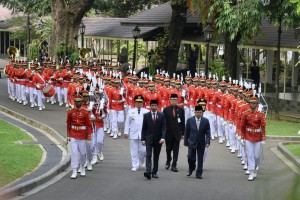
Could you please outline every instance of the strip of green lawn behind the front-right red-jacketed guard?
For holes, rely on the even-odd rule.
[[[278,136],[299,136],[300,123],[266,119],[266,134]]]

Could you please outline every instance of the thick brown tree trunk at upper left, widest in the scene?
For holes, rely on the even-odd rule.
[[[49,55],[57,58],[56,49],[61,44],[77,48],[79,24],[84,14],[92,7],[94,0],[67,4],[65,0],[52,0],[53,29],[50,38]]]

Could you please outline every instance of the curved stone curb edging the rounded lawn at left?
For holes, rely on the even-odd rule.
[[[4,190],[2,190],[0,192],[0,199],[9,199],[9,198],[13,198],[16,196],[19,196],[25,192],[28,192],[34,188],[36,188],[37,186],[42,185],[43,183],[49,181],[50,179],[54,178],[56,175],[58,175],[59,173],[61,173],[62,171],[64,171],[71,162],[71,157],[69,154],[67,154],[67,146],[65,144],[65,138],[59,134],[57,131],[55,131],[54,129],[52,129],[51,127],[38,122],[34,119],[28,118],[24,115],[21,115],[17,112],[14,112],[12,110],[9,110],[3,106],[0,105],[0,111],[9,114],[10,116],[19,119],[22,122],[27,123],[28,125],[33,126],[36,129],[39,129],[42,131],[42,133],[44,133],[47,137],[48,134],[51,135],[51,137],[53,137],[58,143],[56,144],[57,146],[61,146],[63,148],[63,152],[62,152],[62,161],[60,162],[60,164],[58,164],[56,167],[52,168],[50,171],[46,172],[45,174],[43,174],[42,176],[39,176],[37,178],[34,178],[32,180],[29,180],[25,183],[16,185],[14,187],[9,187],[6,188]],[[51,139],[51,138],[50,138]],[[60,148],[60,147],[59,147]],[[62,149],[60,148],[60,149]]]

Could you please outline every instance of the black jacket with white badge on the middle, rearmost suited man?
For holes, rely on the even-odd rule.
[[[175,117],[173,116],[173,107],[168,106],[163,111],[166,117],[167,123],[167,132],[166,139],[175,139],[180,141],[181,136],[184,135],[185,129],[185,117],[184,110],[178,106],[175,107]],[[180,123],[178,123],[178,118],[180,119]]]

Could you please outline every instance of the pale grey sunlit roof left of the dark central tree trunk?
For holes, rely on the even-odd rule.
[[[113,39],[133,39],[132,29],[134,26],[121,26],[120,21],[124,18],[89,17],[84,18],[86,26],[85,37],[101,37]],[[156,27],[140,27],[141,37],[143,34],[156,29]]]

